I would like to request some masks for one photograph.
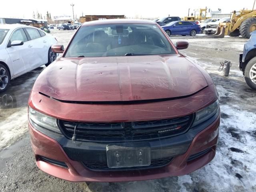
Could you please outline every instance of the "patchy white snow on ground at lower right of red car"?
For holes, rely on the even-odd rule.
[[[190,189],[182,187],[181,192],[191,191],[192,186],[211,192],[256,191],[256,114],[226,104],[220,108],[222,119],[216,156],[210,164],[191,173],[190,178],[179,177],[178,183]]]

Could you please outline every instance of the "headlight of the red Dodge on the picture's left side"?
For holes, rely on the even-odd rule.
[[[28,107],[28,117],[29,117],[30,123],[36,129],[38,129],[38,127],[41,127],[57,133],[61,133],[60,129],[58,128],[56,118],[37,112],[31,107]]]

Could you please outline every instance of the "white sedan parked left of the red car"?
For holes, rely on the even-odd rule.
[[[58,41],[44,31],[22,24],[0,24],[0,92],[10,80],[56,60],[51,46]]]

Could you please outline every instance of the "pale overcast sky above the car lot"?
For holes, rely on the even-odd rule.
[[[72,16],[71,3],[74,3],[74,15],[79,18],[93,14],[124,14],[128,17],[138,15],[142,18],[162,16],[186,16],[188,8],[222,9],[222,13],[242,8],[252,9],[254,0],[0,0],[0,18],[32,18],[33,11],[46,16]],[[242,3],[241,3],[242,2]],[[256,6],[255,6],[256,7]]]

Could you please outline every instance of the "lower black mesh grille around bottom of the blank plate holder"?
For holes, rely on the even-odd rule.
[[[159,167],[168,165],[172,161],[172,159],[173,157],[151,160],[151,164],[149,166],[128,167],[128,168],[108,168],[107,163],[99,163],[99,162],[82,162],[82,163],[88,169],[94,170],[94,171],[124,171],[124,170],[142,170],[142,169],[150,169],[150,168],[159,168]]]

